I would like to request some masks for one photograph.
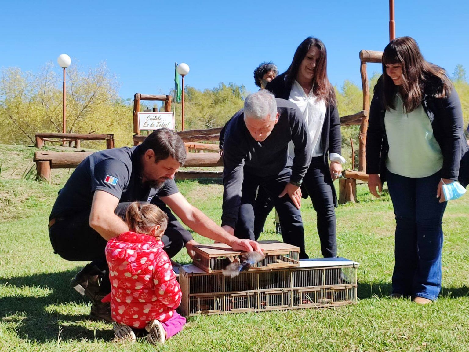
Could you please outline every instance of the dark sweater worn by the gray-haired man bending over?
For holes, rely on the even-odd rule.
[[[303,116],[294,103],[276,99],[279,120],[263,142],[251,137],[243,109],[226,124],[223,143],[222,225],[235,228],[241,205],[244,172],[258,177],[277,176],[291,168],[290,181],[301,183],[311,162],[311,146]],[[295,144],[295,158],[288,156],[288,143]]]

